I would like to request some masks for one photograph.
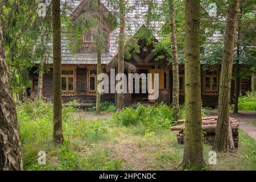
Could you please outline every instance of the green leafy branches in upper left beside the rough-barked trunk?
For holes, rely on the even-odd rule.
[[[51,11],[47,9],[46,17],[39,17],[40,2],[0,2],[6,60],[14,93],[30,86],[29,70],[34,61],[45,61],[49,51]]]

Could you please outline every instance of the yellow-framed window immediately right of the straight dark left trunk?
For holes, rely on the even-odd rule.
[[[62,69],[61,71],[61,91],[62,92],[74,92],[75,91],[75,70],[74,69]]]

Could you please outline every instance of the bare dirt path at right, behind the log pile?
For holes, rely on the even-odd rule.
[[[209,110],[207,114],[218,115],[215,110]],[[256,127],[251,125],[252,121],[256,121],[256,111],[239,111],[239,114],[230,113],[230,117],[236,118],[241,129],[256,141]]]

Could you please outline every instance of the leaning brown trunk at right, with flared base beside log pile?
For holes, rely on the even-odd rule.
[[[229,121],[230,88],[234,43],[237,29],[238,0],[229,1],[228,18],[224,40],[224,52],[221,64],[220,92],[218,97],[218,122],[213,150],[235,151],[232,130]]]

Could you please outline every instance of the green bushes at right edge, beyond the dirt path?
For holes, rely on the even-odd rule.
[[[231,105],[231,108],[234,109],[234,105]],[[247,92],[246,96],[240,97],[238,100],[238,109],[256,110],[256,92]]]

